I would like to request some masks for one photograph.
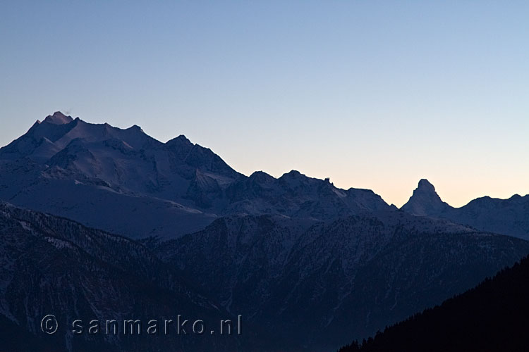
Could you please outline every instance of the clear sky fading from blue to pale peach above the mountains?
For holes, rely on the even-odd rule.
[[[0,2],[0,145],[54,111],[405,203],[529,193],[528,1]]]

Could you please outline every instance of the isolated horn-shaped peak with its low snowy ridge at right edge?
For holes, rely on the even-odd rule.
[[[449,219],[480,231],[529,239],[529,195],[516,194],[509,199],[485,196],[461,208],[454,208],[439,198],[430,182],[420,180],[413,196],[401,210],[414,215]]]

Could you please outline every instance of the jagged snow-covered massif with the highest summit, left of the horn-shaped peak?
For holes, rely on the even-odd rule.
[[[162,143],[56,112],[0,149],[0,199],[131,238],[174,238],[233,214],[333,220],[395,209],[291,171],[246,177],[180,135]]]

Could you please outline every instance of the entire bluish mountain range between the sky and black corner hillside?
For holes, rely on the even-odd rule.
[[[35,324],[47,308],[121,317],[185,306],[241,314],[247,333],[135,348],[329,351],[529,254],[529,196],[453,208],[420,180],[398,209],[296,170],[245,176],[183,135],[162,143],[59,112],[0,149],[0,201],[0,325],[28,346],[45,338]],[[134,344],[58,336],[63,351]]]

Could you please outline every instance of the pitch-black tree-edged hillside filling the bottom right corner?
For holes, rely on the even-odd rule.
[[[529,351],[529,258],[350,351]]]

